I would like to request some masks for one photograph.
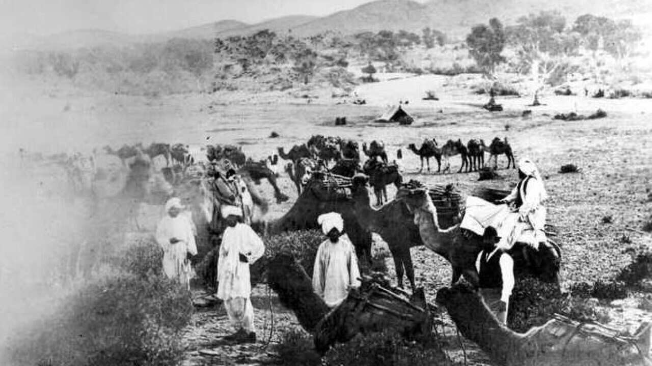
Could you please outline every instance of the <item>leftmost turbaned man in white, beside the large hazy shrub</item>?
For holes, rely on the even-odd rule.
[[[197,254],[192,223],[181,214],[181,199],[172,197],[165,209],[167,214],[156,227],[156,242],[163,249],[163,271],[190,290],[190,256]]]

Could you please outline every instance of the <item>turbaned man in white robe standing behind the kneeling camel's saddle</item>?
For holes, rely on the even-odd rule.
[[[340,305],[349,289],[360,287],[355,248],[344,232],[344,219],[336,212],[319,216],[321,231],[329,238],[319,244],[312,274],[312,288],[329,307]]]

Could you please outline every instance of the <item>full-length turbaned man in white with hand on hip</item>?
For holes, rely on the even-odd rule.
[[[236,330],[225,339],[256,342],[254,308],[250,294],[249,266],[265,253],[263,240],[249,225],[238,222],[242,209],[236,206],[222,206],[222,216],[227,227],[222,235],[220,257],[217,263],[217,298],[224,300],[226,313]]]

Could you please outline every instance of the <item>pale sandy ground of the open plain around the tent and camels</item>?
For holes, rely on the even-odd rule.
[[[277,147],[288,150],[313,134],[340,135],[361,142],[383,140],[390,160],[396,158],[401,148],[404,159],[399,163],[406,168],[408,179],[418,179],[425,184],[455,183],[467,193],[480,185],[508,188],[516,182],[516,171],[504,169],[507,162],[501,156],[498,165],[503,168],[499,171],[502,179],[490,183],[478,182],[476,173],[418,174],[419,158],[407,150],[408,143],[419,146],[424,137],[435,137],[440,144],[447,139],[460,138],[466,142],[471,138],[490,141],[495,136],[507,137],[516,159],[533,158],[544,176],[551,196],[548,216],[561,232],[559,241],[565,253],[564,285],[571,281],[607,279],[629,263],[629,255],[623,253],[625,247],[639,250],[652,246],[649,234],[628,230],[640,230],[652,214],[652,203],[648,201],[652,189],[652,123],[649,121],[652,100],[544,95],[542,103],[547,105],[527,107],[531,102],[529,97],[498,98],[497,102],[505,106],[505,111],[490,113],[479,108],[486,102],[486,96],[471,94],[470,89],[460,87],[472,82],[475,81],[465,80],[464,76],[454,79],[420,76],[361,85],[357,93],[366,99],[366,106],[336,105],[340,100],[331,98],[331,91],[322,91],[323,97],[307,104],[304,99],[283,93],[247,95],[234,92],[145,98],[89,94],[71,91],[65,85],[3,83],[0,120],[5,134],[0,141],[0,161],[5,163],[3,166],[16,162],[19,148],[29,154],[47,155],[151,141],[193,146],[236,143],[243,146],[248,156],[259,159],[273,154]],[[437,92],[438,102],[421,100],[428,89]],[[388,104],[396,104],[398,100],[409,100],[407,109],[416,117],[413,125],[373,122]],[[555,113],[589,114],[598,108],[604,109],[608,117],[576,122],[552,120]],[[532,116],[520,117],[523,109],[532,109]],[[348,125],[333,126],[334,117],[342,116],[347,117]],[[506,129],[508,124],[509,130]],[[269,138],[272,131],[280,137]],[[565,163],[582,167],[582,173],[557,173]],[[456,171],[459,166],[459,159],[452,158],[452,169]],[[436,171],[436,163],[431,162],[433,167]],[[297,197],[288,176],[282,175],[279,185],[290,200],[273,203],[270,219],[287,212]],[[272,197],[267,183],[259,187],[265,197]],[[46,188],[33,190],[42,193]],[[19,198],[25,191],[16,190],[14,204],[20,204]],[[391,189],[390,195],[393,193]],[[67,209],[74,210],[74,207]],[[143,210],[149,210],[150,216],[155,217],[158,208]],[[613,217],[613,223],[601,223],[606,215]],[[143,227],[151,225],[143,224]],[[622,244],[623,236],[628,236],[632,244]],[[378,245],[383,244],[378,241]],[[426,287],[432,302],[436,290],[449,282],[449,265],[424,248],[413,248],[412,254],[417,284]],[[391,260],[388,266],[393,272]],[[610,325],[632,330],[641,320],[650,318],[648,311],[639,309],[642,296],[644,294],[637,294],[623,305],[602,304],[612,315]],[[261,333],[259,339],[269,339],[270,303],[276,322],[271,337],[273,344],[284,328],[296,325],[296,320],[278,304],[273,294],[267,296],[264,286],[257,287],[254,306]],[[452,334],[450,320],[445,322]],[[190,350],[186,364],[226,365],[231,364],[228,359],[233,358],[244,363],[259,363],[273,357],[273,352],[268,354],[271,348],[263,348],[266,342],[244,348],[216,345],[218,337],[228,333],[227,328],[221,307],[198,311],[188,329]],[[486,358],[477,348],[467,345],[467,350],[473,352],[469,364],[485,364]],[[215,355],[211,356],[210,352]],[[452,346],[450,352],[460,359],[458,346]]]

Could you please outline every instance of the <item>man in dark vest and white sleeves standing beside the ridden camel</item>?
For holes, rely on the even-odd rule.
[[[500,238],[488,227],[482,235],[482,251],[475,261],[480,277],[480,293],[499,322],[507,324],[509,297],[514,289],[514,260],[496,246]]]

